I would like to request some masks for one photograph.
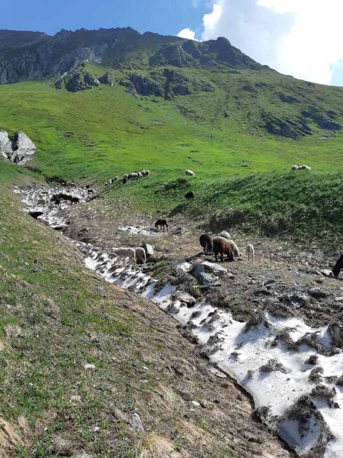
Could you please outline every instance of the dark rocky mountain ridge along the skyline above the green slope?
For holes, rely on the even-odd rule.
[[[40,32],[0,31],[0,84],[61,76],[82,61],[109,59],[120,65],[130,51],[149,53],[149,66],[202,67],[224,63],[236,68],[262,68],[231,46],[226,38],[203,43],[165,37],[131,27],[61,30],[53,37]]]

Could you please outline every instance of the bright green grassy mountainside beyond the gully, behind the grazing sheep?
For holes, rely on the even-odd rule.
[[[201,213],[207,223],[216,212],[230,211],[242,216],[228,220],[229,228],[234,224],[246,233],[341,243],[342,130],[333,134],[307,119],[312,135],[294,140],[268,134],[263,119],[267,112],[273,119],[297,122],[302,111],[315,106],[326,117],[334,112],[343,126],[341,88],[309,87],[269,70],[232,73],[218,65],[215,70],[174,69],[191,82],[211,84],[211,92],[191,91],[172,100],[134,98],[118,84],[130,66],[147,74],[146,54],[128,54],[121,70],[87,65],[97,77],[110,70],[113,88],[101,84],[69,93],[54,89],[52,81],[0,86],[0,127],[23,130],[34,140],[40,151],[31,165],[45,177],[103,184],[115,175],[149,169],[147,180],[111,186],[114,205],[123,199],[153,216]],[[154,71],[161,75],[163,69]],[[249,85],[255,89],[243,89]],[[280,101],[280,93],[297,102]],[[310,173],[290,174],[293,164],[304,163]],[[195,171],[195,179],[185,178],[186,168]],[[161,184],[164,193],[157,192]],[[193,207],[183,200],[191,189]]]

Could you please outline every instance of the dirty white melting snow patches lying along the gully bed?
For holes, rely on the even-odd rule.
[[[30,192],[21,192],[23,202],[26,211],[36,211],[34,202],[41,193]],[[87,198],[86,190],[74,195],[83,202]],[[65,224],[56,212],[44,208],[44,218]],[[131,227],[119,229],[130,232]],[[299,455],[343,456],[343,351],[332,345],[327,326],[311,328],[297,318],[258,313],[240,323],[229,311],[206,302],[186,306],[175,296],[182,284],[167,283],[155,291],[146,266],[132,266],[90,244],[73,243],[85,256],[87,268],[150,299],[178,320],[211,361],[254,397],[256,414]]]

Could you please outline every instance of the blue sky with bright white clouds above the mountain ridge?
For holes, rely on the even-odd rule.
[[[14,0],[0,28],[53,35],[61,28],[130,25],[197,40],[225,36],[281,73],[343,86],[341,0]]]

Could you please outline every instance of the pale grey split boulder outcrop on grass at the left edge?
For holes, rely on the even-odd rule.
[[[13,141],[7,132],[0,131],[0,153],[11,162],[23,165],[35,151],[35,144],[21,130],[14,134]]]

